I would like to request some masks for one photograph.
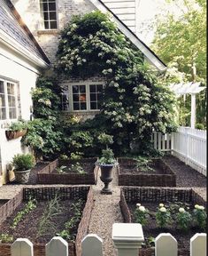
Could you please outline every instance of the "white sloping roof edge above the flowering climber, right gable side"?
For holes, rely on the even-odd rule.
[[[101,0],[89,0],[92,4],[96,6],[98,10],[101,12],[110,12],[112,13],[112,20],[117,24],[119,30],[124,33],[125,36],[129,38],[129,40],[135,44],[135,46],[144,54],[144,57],[153,65],[155,68],[157,68],[159,71],[165,71],[166,70],[166,64],[158,58],[158,56],[155,54],[155,52],[151,51],[150,48],[143,43],[141,39],[139,39],[138,36],[135,35],[135,33],[127,27],[126,24],[123,23],[122,20],[119,19],[119,17],[112,12],[111,9],[109,9]]]

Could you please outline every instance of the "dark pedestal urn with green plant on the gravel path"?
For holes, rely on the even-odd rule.
[[[112,190],[109,188],[109,183],[112,182],[112,169],[118,164],[112,149],[103,149],[102,156],[96,161],[96,164],[101,170],[100,180],[104,182],[104,188],[101,190],[101,193],[112,194]]]

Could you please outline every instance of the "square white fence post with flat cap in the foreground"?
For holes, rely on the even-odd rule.
[[[112,240],[118,249],[118,256],[138,256],[139,248],[144,241],[142,225],[114,223],[112,225]]]

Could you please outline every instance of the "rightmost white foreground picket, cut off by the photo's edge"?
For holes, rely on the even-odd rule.
[[[190,256],[206,256],[206,234],[196,233],[190,238]]]

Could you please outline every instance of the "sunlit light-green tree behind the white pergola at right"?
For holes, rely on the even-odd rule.
[[[206,2],[205,0],[169,0],[181,13],[167,12],[156,21],[156,34],[152,49],[167,64],[177,63],[185,74],[185,81],[206,84]],[[206,92],[197,95],[196,122],[205,124]],[[183,105],[181,100],[181,105]],[[190,109],[190,102],[187,102]],[[187,112],[187,111],[186,111]],[[188,111],[189,112],[189,111]]]

